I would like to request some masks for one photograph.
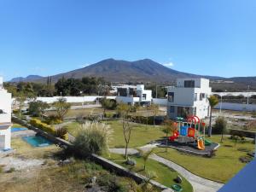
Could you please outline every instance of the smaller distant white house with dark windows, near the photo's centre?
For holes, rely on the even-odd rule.
[[[116,101],[134,105],[151,104],[152,90],[145,90],[144,84],[137,84],[136,88],[118,88]]]

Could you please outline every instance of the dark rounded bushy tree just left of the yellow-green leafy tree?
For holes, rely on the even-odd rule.
[[[49,108],[47,102],[33,101],[29,102],[28,112],[33,116],[38,116],[43,119],[45,109]]]

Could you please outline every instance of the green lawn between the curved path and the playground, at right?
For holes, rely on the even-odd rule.
[[[219,143],[220,136],[212,136],[211,140]],[[254,145],[251,141],[248,141],[247,143],[237,143],[235,147],[235,143],[228,137],[224,137],[224,143],[220,144],[221,146],[218,148],[216,156],[212,158],[183,154],[172,148],[168,148],[167,153],[165,148],[155,148],[154,151],[155,154],[176,162],[200,177],[227,183],[231,177],[234,177],[246,165],[241,163],[239,157],[247,155],[247,152],[242,152],[238,149],[253,150]]]

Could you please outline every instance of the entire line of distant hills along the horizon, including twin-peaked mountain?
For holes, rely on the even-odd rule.
[[[183,73],[165,67],[150,59],[139,61],[107,59],[67,73],[56,74],[51,76],[51,80],[55,83],[62,77],[75,79],[81,79],[83,77],[103,77],[112,83],[151,82],[166,84],[174,82],[177,78],[206,78],[212,80],[211,86],[213,90],[241,91],[247,90],[247,85],[250,85],[250,90],[256,90],[256,77],[235,77],[226,79],[216,76],[205,76],[203,74]],[[19,82],[20,80],[41,83],[47,82],[47,78],[38,75],[29,75],[26,78],[15,78],[12,79],[11,82]]]

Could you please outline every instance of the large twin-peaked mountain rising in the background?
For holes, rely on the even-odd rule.
[[[172,82],[177,78],[205,77],[178,72],[149,59],[139,61],[107,59],[71,72],[54,75],[51,78],[56,82],[61,77],[80,79],[85,76],[103,77],[111,82]],[[212,77],[212,79],[219,78]],[[41,82],[46,80],[47,78],[39,79]]]

